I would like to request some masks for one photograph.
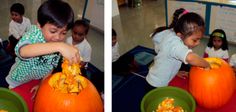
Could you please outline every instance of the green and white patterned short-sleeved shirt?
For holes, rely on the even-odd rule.
[[[28,82],[33,79],[41,79],[57,66],[60,59],[58,53],[27,59],[20,56],[19,50],[22,46],[35,43],[46,43],[46,41],[41,30],[37,26],[32,25],[29,32],[23,35],[22,39],[20,39],[15,47],[17,57],[9,73],[11,80]]]

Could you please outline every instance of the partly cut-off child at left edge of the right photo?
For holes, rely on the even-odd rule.
[[[120,57],[119,44],[117,42],[116,36],[117,36],[116,31],[112,29],[112,62],[115,62]]]

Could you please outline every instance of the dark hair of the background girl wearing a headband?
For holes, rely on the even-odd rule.
[[[218,35],[216,35],[218,33]],[[209,42],[207,44],[208,47],[214,47],[213,46],[213,38],[214,37],[220,37],[222,39],[222,50],[228,50],[228,41],[227,41],[227,38],[226,38],[226,34],[224,32],[224,30],[222,29],[215,29],[211,35],[210,35],[210,39],[209,39]]]

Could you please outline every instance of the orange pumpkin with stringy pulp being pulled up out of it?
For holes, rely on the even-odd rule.
[[[68,68],[76,68],[68,69]],[[103,112],[94,85],[79,75],[78,65],[62,64],[62,71],[46,78],[38,90],[34,112]],[[74,74],[76,73],[76,74]]]

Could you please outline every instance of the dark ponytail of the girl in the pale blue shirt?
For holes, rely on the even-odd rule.
[[[183,14],[183,12],[185,11],[184,8],[179,8],[179,9],[176,9],[174,14],[173,14],[173,20],[171,22],[171,24],[169,26],[162,26],[162,27],[158,27],[154,30],[154,33],[152,34],[152,37],[158,33],[158,32],[161,32],[163,30],[166,30],[166,29],[171,29],[175,26],[175,24],[177,23],[178,19],[179,19],[179,16],[181,14]]]

